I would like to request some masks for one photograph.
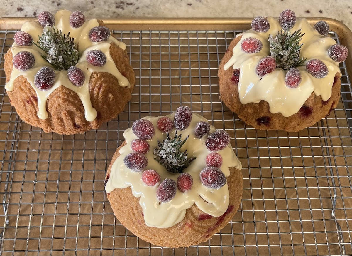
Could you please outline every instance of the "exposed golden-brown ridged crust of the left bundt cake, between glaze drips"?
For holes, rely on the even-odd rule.
[[[104,25],[99,21],[100,25]],[[118,80],[109,73],[93,72],[89,80],[90,100],[97,111],[94,121],[88,122],[84,116],[84,108],[78,95],[64,87],[59,86],[52,92],[46,101],[48,118],[45,120],[37,116],[38,99],[36,91],[24,76],[14,80],[13,91],[7,91],[10,103],[17,111],[19,117],[32,126],[40,127],[44,132],[58,134],[77,134],[88,130],[97,129],[120,114],[131,99],[135,78],[133,68],[126,50],[122,50],[115,43],[110,44],[110,54],[120,73],[128,79],[131,87],[122,87]],[[4,69],[6,82],[12,73],[11,49],[5,54]]]

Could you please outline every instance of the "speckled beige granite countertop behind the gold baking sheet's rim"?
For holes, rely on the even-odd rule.
[[[240,2],[240,4],[238,4]],[[352,0],[4,0],[0,17],[34,17],[41,11],[81,10],[86,17],[329,17],[352,29]]]

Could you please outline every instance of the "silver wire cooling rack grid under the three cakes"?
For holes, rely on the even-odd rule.
[[[14,31],[0,31],[0,254],[351,255],[352,88],[345,64],[341,100],[327,118],[298,133],[255,130],[219,100],[218,64],[238,32],[114,31],[136,73],[132,100],[98,130],[62,136],[27,125],[11,107],[3,63]],[[104,178],[133,121],[180,103],[230,134],[244,190],[239,212],[213,239],[170,249],[138,239],[115,219]]]

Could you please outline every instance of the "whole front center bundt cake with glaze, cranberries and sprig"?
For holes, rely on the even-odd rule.
[[[230,136],[181,106],[144,117],[124,132],[106,174],[115,216],[139,238],[159,246],[207,241],[241,202],[241,163]]]

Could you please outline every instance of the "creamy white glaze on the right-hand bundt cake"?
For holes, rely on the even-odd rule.
[[[297,88],[291,89],[285,85],[287,71],[281,68],[276,68],[274,72],[263,77],[256,74],[256,66],[259,61],[263,57],[270,56],[269,35],[275,36],[282,30],[277,19],[268,17],[267,20],[270,23],[270,29],[267,32],[260,33],[251,29],[237,35],[242,38],[233,48],[233,56],[224,66],[225,70],[231,66],[233,69],[240,69],[238,84],[240,102],[247,104],[265,100],[269,103],[271,113],[281,113],[284,117],[288,117],[300,110],[312,92],[317,96],[320,95],[323,100],[328,100],[331,97],[335,74],[340,73],[338,62],[330,59],[328,55],[329,47],[336,44],[335,40],[320,35],[306,19],[297,19],[295,26],[290,31],[293,33],[302,29],[301,32],[304,35],[301,40],[303,43],[301,57],[307,58],[307,60],[302,66],[297,67],[302,75],[301,84]],[[241,42],[247,37],[258,38],[263,43],[263,48],[259,53],[246,54],[241,50]],[[312,59],[321,60],[328,67],[328,74],[325,78],[315,78],[307,72],[306,63]]]

